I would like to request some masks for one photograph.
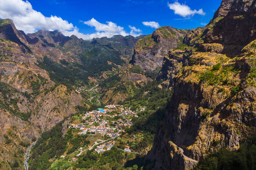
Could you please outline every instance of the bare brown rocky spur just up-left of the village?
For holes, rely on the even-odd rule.
[[[82,96],[75,91],[67,92],[67,87],[60,84],[52,92],[35,99],[35,112],[31,117],[32,125],[40,131],[48,131],[64,117],[76,113],[75,107],[81,105]]]

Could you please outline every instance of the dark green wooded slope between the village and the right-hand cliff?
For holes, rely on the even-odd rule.
[[[148,82],[146,86],[135,91],[135,95],[125,102],[125,105],[131,107],[131,110],[138,108],[139,105],[147,106],[144,112],[138,113],[139,118],[133,118],[131,128],[125,130],[128,134],[142,133],[143,137],[140,136],[140,141],[130,144],[130,147],[135,151],[142,151],[152,145],[156,130],[164,118],[168,99],[172,95],[170,90],[158,88],[158,84],[159,82],[156,80]],[[147,94],[145,95],[144,92]]]

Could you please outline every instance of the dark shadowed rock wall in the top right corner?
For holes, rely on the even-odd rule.
[[[207,32],[204,44],[222,44],[221,53],[239,54],[256,39],[256,5],[253,0],[234,1],[229,8],[228,14]]]

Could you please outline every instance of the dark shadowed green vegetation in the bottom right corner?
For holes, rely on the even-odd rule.
[[[237,151],[226,148],[200,160],[195,169],[254,169],[256,167],[256,136],[243,143]]]

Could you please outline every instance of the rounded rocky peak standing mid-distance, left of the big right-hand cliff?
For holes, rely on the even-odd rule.
[[[170,26],[156,29],[151,35],[137,41],[131,63],[134,66],[140,65],[145,71],[155,70],[162,66],[168,50],[181,44],[187,32]]]

